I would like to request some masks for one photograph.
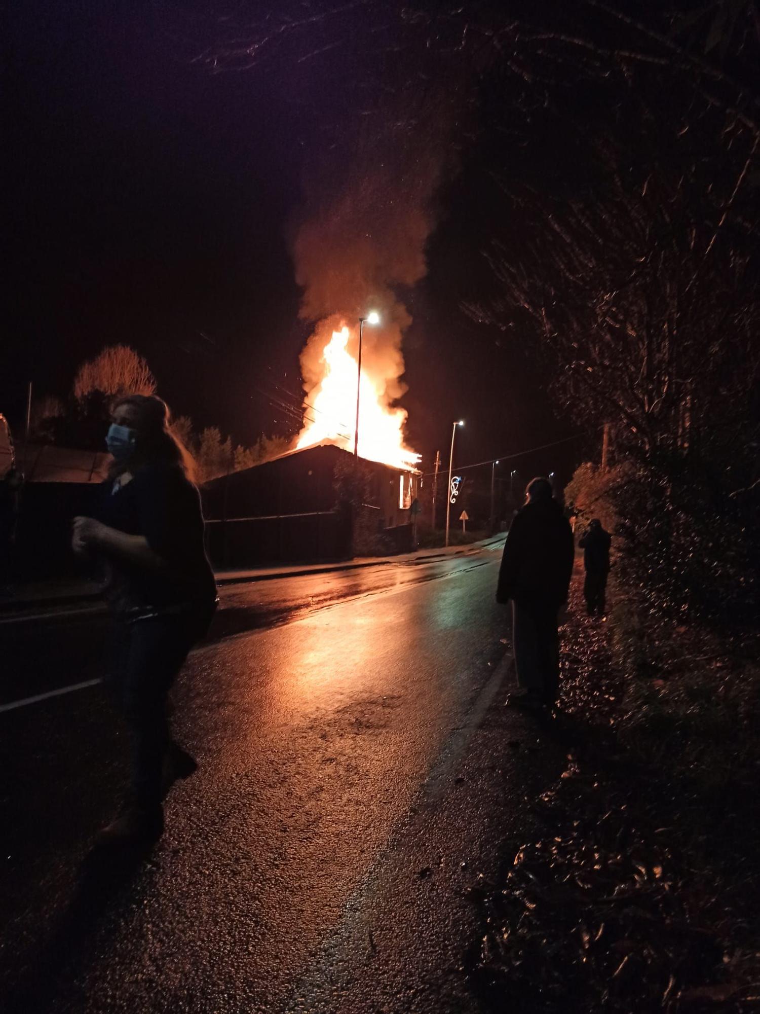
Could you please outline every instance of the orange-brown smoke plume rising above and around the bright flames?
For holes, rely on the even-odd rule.
[[[359,318],[377,310],[381,324],[364,329],[362,371],[383,407],[402,412],[392,407],[406,389],[401,343],[411,317],[400,296],[427,270],[444,163],[441,124],[435,117],[427,128],[410,129],[408,118],[389,123],[380,136],[339,153],[343,166],[337,172],[331,166],[331,186],[324,177],[313,186],[294,242],[300,315],[315,324],[301,354],[310,404],[319,393],[331,333],[348,325],[348,351],[356,356]]]

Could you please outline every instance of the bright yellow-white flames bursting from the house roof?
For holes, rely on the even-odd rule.
[[[357,360],[348,351],[347,327],[333,331],[320,363],[322,376],[310,390],[307,420],[297,447],[329,442],[354,451],[357,412]],[[362,360],[359,399],[359,456],[400,468],[414,468],[420,455],[403,441],[406,413],[384,404],[384,385],[378,385],[364,369]]]

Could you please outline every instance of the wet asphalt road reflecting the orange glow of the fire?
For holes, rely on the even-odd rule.
[[[500,550],[227,589],[174,694],[201,770],[147,861],[87,859],[126,767],[100,686],[1,712],[7,1009],[478,1010],[470,895],[563,757],[503,706]],[[105,624],[0,639],[2,705],[95,678]]]

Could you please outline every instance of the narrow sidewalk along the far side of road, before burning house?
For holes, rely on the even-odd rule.
[[[273,567],[246,568],[243,570],[215,571],[220,587],[246,584],[252,581],[271,581],[276,578],[304,577],[309,574],[329,574],[335,571],[358,570],[363,567],[383,567],[391,564],[423,564],[447,557],[479,553],[489,546],[504,542],[505,535],[492,535],[468,546],[450,546],[448,549],[419,550],[393,557],[356,557],[353,560],[331,561],[318,564],[275,565]],[[84,578],[50,578],[17,585],[12,596],[0,594],[0,620],[29,608],[42,611],[62,606],[76,607],[100,601],[100,588],[94,581]]]

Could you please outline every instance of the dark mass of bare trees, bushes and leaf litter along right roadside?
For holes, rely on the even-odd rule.
[[[546,733],[567,771],[538,800],[541,841],[507,843],[479,981],[496,1009],[748,1011],[760,19],[743,0],[554,13],[506,28],[488,71],[509,228],[466,309],[530,336],[557,402],[599,434],[565,498],[615,535],[615,605],[600,625],[577,601],[565,628]]]

